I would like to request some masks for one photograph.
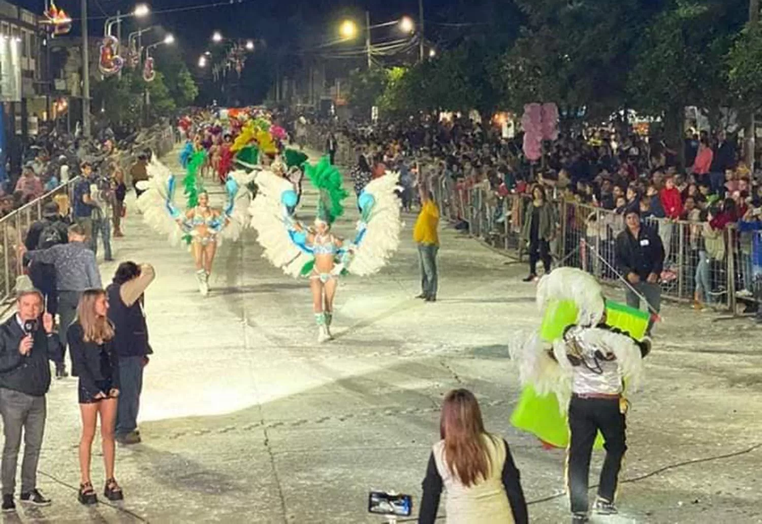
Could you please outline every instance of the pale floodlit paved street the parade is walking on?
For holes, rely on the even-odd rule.
[[[415,217],[406,217],[392,264],[342,281],[337,339],[317,345],[308,284],[268,265],[253,230],[220,249],[204,298],[190,254],[142,225],[133,200],[128,207],[117,259],[151,262],[158,278],[146,294],[155,355],[143,443],[117,449],[126,502],[88,510],[76,501],[80,422],[67,379],[50,392],[40,460],[54,504],[6,522],[383,522],[367,515],[367,492],[409,493],[418,504],[440,400],[453,387],[479,395],[488,429],[511,444],[530,522],[566,522],[564,454],[508,422],[519,386],[507,340],[538,322],[523,264],[443,230],[440,301],[422,303],[412,298]],[[347,211],[340,233],[354,225],[352,203]],[[101,266],[104,282],[114,268]],[[671,306],[664,319],[628,418],[623,516],[593,522],[762,522],[762,449],[728,456],[762,443],[760,330]],[[93,464],[102,486],[100,455]]]

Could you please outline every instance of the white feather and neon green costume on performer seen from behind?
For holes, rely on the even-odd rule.
[[[575,268],[556,268],[543,277],[537,287],[537,306],[543,314],[540,329],[514,338],[509,345],[524,386],[511,423],[543,443],[565,448],[574,371],[569,355],[573,360],[579,341],[606,348],[616,356],[626,390],[636,389],[642,376],[637,341],[645,336],[648,314],[604,300],[595,278]],[[604,314],[606,324],[600,325]],[[596,446],[602,443],[599,434]]]

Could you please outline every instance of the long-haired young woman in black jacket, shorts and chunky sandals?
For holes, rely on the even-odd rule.
[[[107,317],[108,301],[102,289],[82,293],[77,319],[66,338],[72,352],[72,371],[79,377],[79,411],[82,414],[82,438],[79,441],[79,502],[98,502],[90,480],[90,459],[95,425],[101,418],[101,441],[106,469],[104,495],[108,500],[122,500],[122,489],[114,478],[114,424],[119,396],[119,359],[114,350],[114,326]]]

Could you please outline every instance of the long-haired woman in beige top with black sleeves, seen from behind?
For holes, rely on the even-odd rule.
[[[472,392],[447,393],[440,434],[429,457],[418,524],[434,524],[443,488],[446,524],[527,524],[527,503],[511,451],[505,440],[485,431]]]

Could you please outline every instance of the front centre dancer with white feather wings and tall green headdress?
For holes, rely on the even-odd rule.
[[[309,278],[318,341],[325,342],[332,338],[338,277],[346,272],[358,276],[378,272],[399,246],[402,222],[395,195],[397,178],[389,173],[367,186],[360,195],[363,213],[357,234],[347,242],[331,230],[336,218],[344,214],[341,202],[347,197],[341,173],[331,166],[328,157],[315,166],[306,164],[305,170],[320,192],[312,227],[294,218],[298,197],[293,184],[270,170],[257,175],[258,194],[249,212],[251,227],[257,230],[257,240],[264,247],[264,257],[287,275]]]

